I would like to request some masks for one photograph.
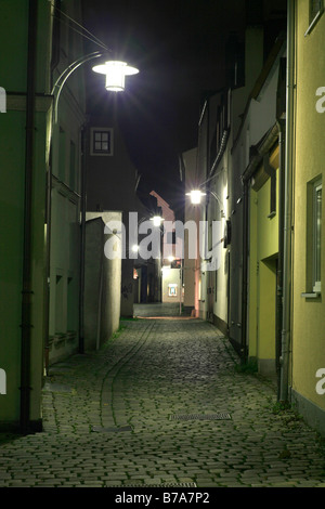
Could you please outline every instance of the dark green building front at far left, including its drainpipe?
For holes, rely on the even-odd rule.
[[[1,2],[0,426],[24,432],[42,419],[51,34],[50,2]]]

